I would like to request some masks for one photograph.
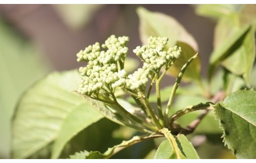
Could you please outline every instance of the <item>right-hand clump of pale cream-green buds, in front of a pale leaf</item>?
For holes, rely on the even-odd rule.
[[[154,75],[159,73],[161,67],[165,65],[169,68],[174,61],[181,55],[181,47],[175,46],[167,52],[165,45],[168,42],[166,37],[152,37],[147,39],[147,45],[138,46],[133,52],[144,62],[143,67],[139,68],[132,75],[128,76],[126,85],[130,89],[145,87],[149,77],[151,80]]]

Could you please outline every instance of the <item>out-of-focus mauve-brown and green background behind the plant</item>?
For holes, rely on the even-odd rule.
[[[10,154],[11,117],[22,92],[50,72],[80,67],[75,54],[111,34],[129,36],[130,50],[141,45],[138,6],[174,17],[191,33],[205,76],[216,22],[197,16],[194,5],[0,4],[0,159]]]

